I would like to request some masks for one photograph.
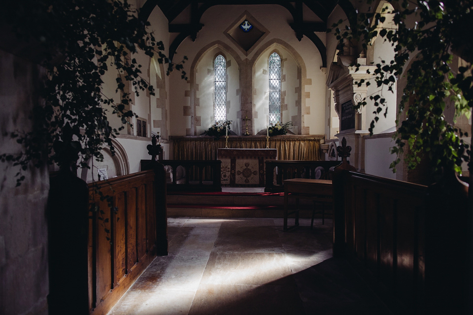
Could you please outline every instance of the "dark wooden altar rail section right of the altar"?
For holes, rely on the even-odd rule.
[[[268,160],[265,192],[284,191],[283,181],[286,179],[327,179],[330,168],[338,164],[340,161]]]

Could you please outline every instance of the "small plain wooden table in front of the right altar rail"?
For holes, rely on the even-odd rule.
[[[295,214],[295,224],[289,229],[299,226],[299,199],[310,199],[322,204],[333,201],[333,189],[331,180],[293,178],[284,182],[284,231],[288,230],[287,217]],[[296,209],[289,211],[289,198],[296,198]],[[312,212],[312,228],[315,211]]]

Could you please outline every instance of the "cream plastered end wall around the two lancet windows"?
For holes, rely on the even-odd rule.
[[[230,39],[228,39],[223,32],[245,10],[248,11],[258,23],[263,25],[269,31],[267,36],[251,49],[248,56],[245,56],[245,54],[238,47],[236,47],[236,44],[230,41]],[[189,61],[193,61],[196,58],[197,52],[201,51],[208,44],[219,41],[228,45],[236,52],[238,58],[241,59],[243,63],[239,65],[240,67],[248,67],[258,59],[257,55],[261,53],[260,49],[262,47],[267,47],[275,40],[283,41],[288,47],[290,47],[288,50],[294,50],[297,52],[301,58],[301,61],[305,64],[305,73],[303,75],[304,90],[302,91],[301,95],[303,98],[303,110],[301,111],[303,116],[302,127],[308,128],[306,133],[323,134],[325,131],[325,74],[320,70],[320,67],[322,66],[322,58],[315,45],[308,38],[304,36],[301,41],[298,41],[294,31],[289,26],[289,23],[291,22],[291,14],[280,5],[212,6],[206,10],[202,16],[201,23],[204,24],[204,27],[198,33],[197,39],[192,41],[190,38],[186,38],[177,48],[173,61],[179,62],[184,56],[187,56]],[[294,56],[295,54],[292,55]],[[228,58],[229,56],[227,56],[227,59]],[[191,62],[185,63],[184,65],[184,69],[188,74],[191,73],[190,65]],[[246,70],[246,75],[251,75],[251,73]],[[200,116],[201,119],[203,119],[203,117],[206,116],[213,116],[213,112],[203,115],[203,112],[201,111],[202,109],[199,109],[199,114],[194,115],[194,113],[191,112],[190,115],[184,115],[185,110],[187,110],[185,109],[185,106],[191,106],[191,97],[193,97],[191,93],[192,82],[190,80],[188,82],[182,80],[179,73],[171,74],[169,80],[170,118],[172,122],[170,126],[171,135],[186,135],[186,132],[193,132],[193,129],[191,128],[191,122],[195,120],[194,116]],[[293,79],[286,76],[286,82],[288,82],[288,84],[290,80]],[[258,89],[258,84],[253,82],[253,87]],[[292,81],[290,84],[296,86],[296,83]],[[267,82],[265,82],[264,85],[267,85]],[[237,86],[240,89],[244,88],[241,84],[238,84]],[[229,95],[233,93],[230,91],[232,87],[233,83],[230,83]],[[202,92],[202,87],[199,86],[198,88],[199,91]],[[268,90],[268,88],[265,90]],[[253,93],[253,97],[255,97],[255,91],[251,92]],[[257,92],[258,91],[256,91],[256,93]],[[294,91],[292,91],[292,93],[294,93]],[[239,101],[240,100],[238,100],[238,102]],[[203,106],[202,99],[200,99],[199,102],[200,106]],[[253,104],[258,106],[255,102],[255,98],[253,99]],[[233,100],[231,100],[232,113],[229,113],[229,117],[232,117],[233,113],[236,115],[233,105]],[[289,105],[290,104],[288,103],[288,107]],[[307,106],[308,108],[304,108],[304,106]],[[238,108],[238,106],[236,108]],[[187,114],[189,113],[187,112]],[[244,113],[242,113],[242,115],[244,117]],[[253,117],[253,119],[255,121],[249,122],[249,124],[257,124],[254,127],[254,133],[266,127],[267,123],[264,123],[260,126],[261,123],[259,121],[262,119],[262,117],[259,110],[257,117]],[[198,127],[197,130],[204,130],[208,127],[209,126],[205,126],[202,120],[201,126]],[[232,129],[236,130],[235,126],[232,125]],[[197,132],[197,134],[199,134],[199,132]]]

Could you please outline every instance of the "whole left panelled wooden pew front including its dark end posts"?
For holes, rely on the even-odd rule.
[[[49,314],[106,314],[168,254],[164,176],[157,167],[96,187],[72,173],[51,178]]]

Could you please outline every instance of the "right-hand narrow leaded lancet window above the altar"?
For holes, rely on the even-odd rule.
[[[281,58],[270,56],[270,124],[281,121]]]

